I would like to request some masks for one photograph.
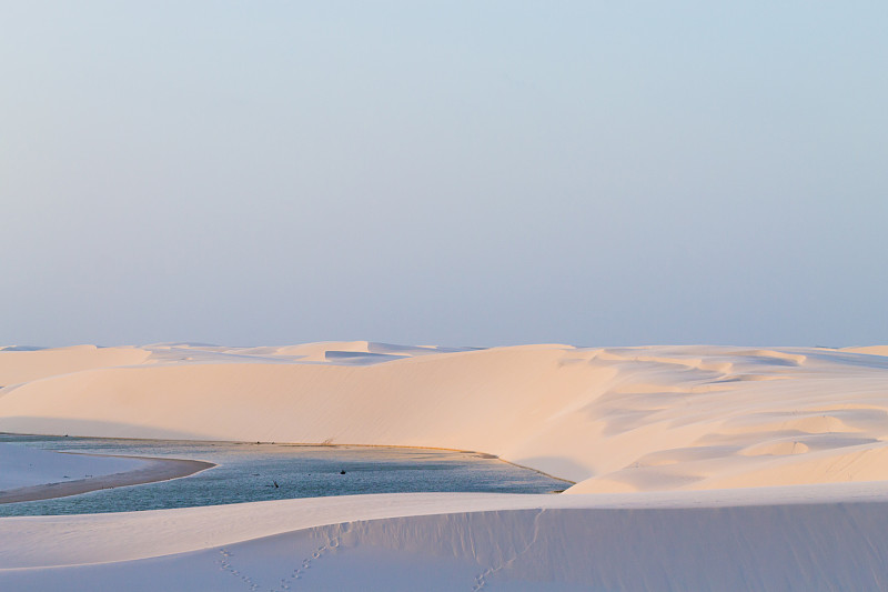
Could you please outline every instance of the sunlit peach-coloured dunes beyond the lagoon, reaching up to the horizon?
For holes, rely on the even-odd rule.
[[[888,358],[874,351],[0,351],[0,377],[24,379],[0,389],[0,430],[477,450],[576,481],[572,493],[880,481]]]

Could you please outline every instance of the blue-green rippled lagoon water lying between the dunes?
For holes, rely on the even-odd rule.
[[[564,481],[475,452],[17,434],[0,434],[0,442],[44,450],[195,459],[218,465],[172,481],[0,504],[0,516],[125,512],[356,493],[551,493],[567,486]]]

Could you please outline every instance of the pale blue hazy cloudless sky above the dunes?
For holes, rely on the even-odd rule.
[[[887,29],[0,0],[0,343],[888,343]]]

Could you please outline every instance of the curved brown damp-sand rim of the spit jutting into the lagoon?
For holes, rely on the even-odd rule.
[[[63,454],[78,454],[74,452]],[[110,454],[82,454],[84,456],[113,456]],[[193,461],[183,459],[157,459],[151,456],[125,456],[127,459],[138,459],[147,461],[148,465],[133,471],[125,471],[110,475],[102,475],[89,479],[75,479],[60,483],[46,483],[28,488],[18,488],[8,491],[0,491],[0,503],[31,502],[37,500],[49,500],[52,498],[65,498],[89,491],[101,489],[120,488],[124,485],[141,485],[155,481],[169,481],[180,476],[189,476],[200,471],[215,466],[212,462]]]

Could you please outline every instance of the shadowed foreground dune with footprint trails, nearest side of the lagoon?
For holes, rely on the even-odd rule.
[[[888,488],[737,491],[385,494],[10,518],[0,520],[0,589],[882,589]]]

